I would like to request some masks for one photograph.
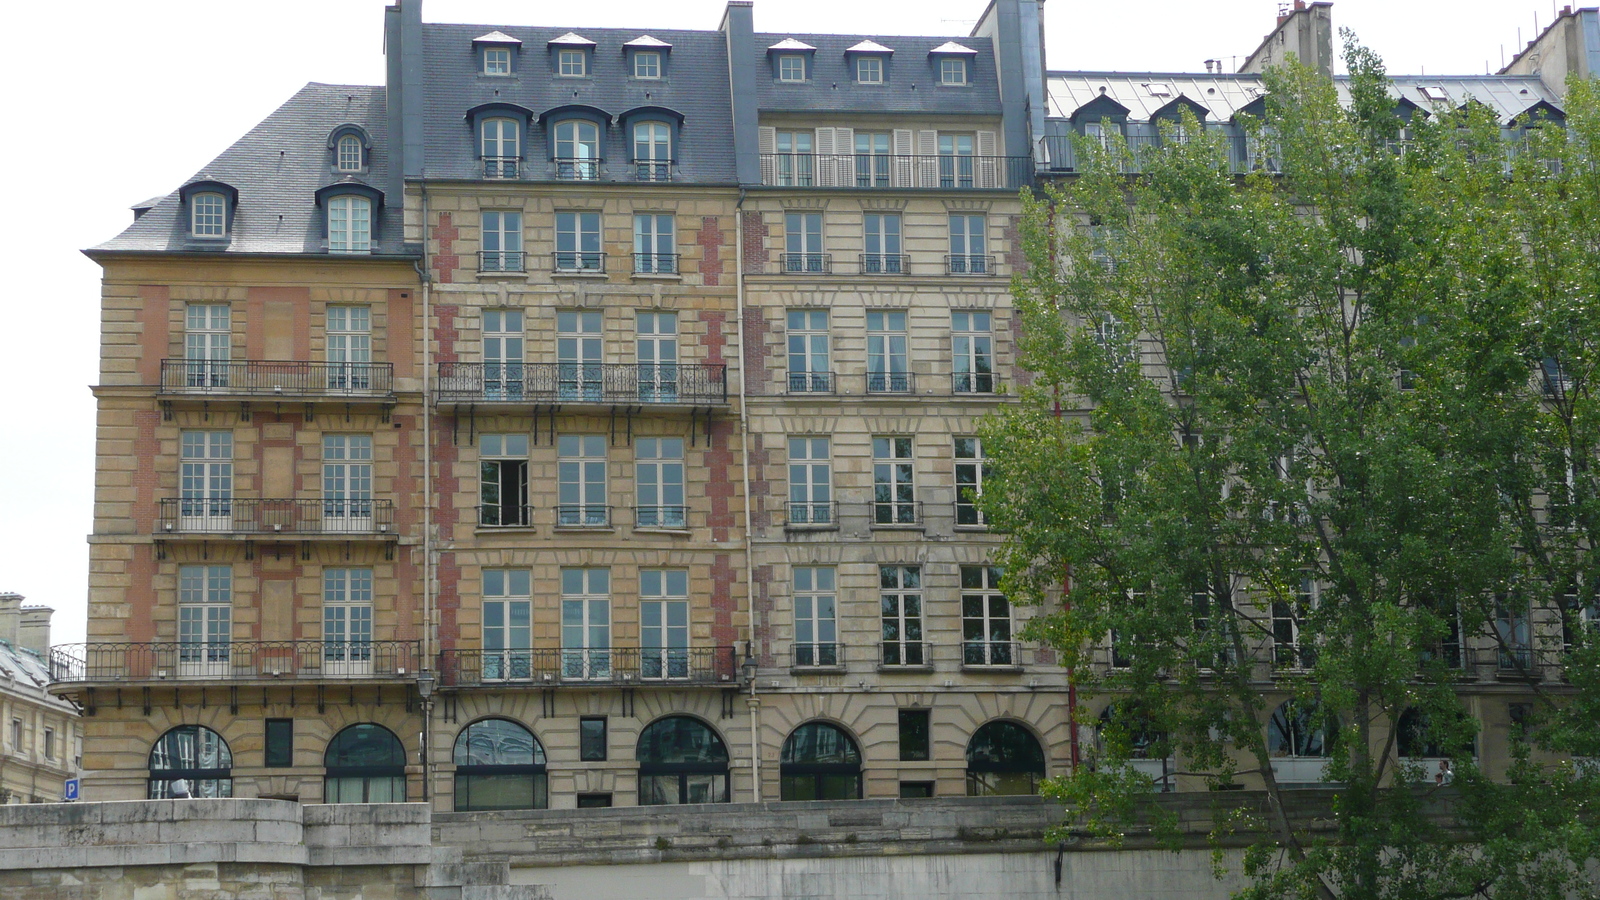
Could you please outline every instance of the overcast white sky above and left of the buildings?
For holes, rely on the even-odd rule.
[[[387,0],[18,0],[0,37],[0,591],[83,639],[99,267],[123,229],[306,82],[382,83]],[[723,0],[427,0],[424,21],[714,29]],[[963,35],[984,0],[757,0],[765,32]],[[1050,0],[1053,69],[1203,70],[1254,50],[1275,0]],[[1338,0],[1395,74],[1499,69],[1549,0]]]

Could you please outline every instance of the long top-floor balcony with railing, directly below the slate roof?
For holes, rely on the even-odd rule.
[[[762,154],[762,184],[771,187],[1018,191],[1032,183],[1032,157]]]

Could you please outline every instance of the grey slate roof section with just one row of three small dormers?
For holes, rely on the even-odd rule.
[[[771,75],[766,48],[784,38],[816,46],[811,58],[811,80],[798,85],[779,83]],[[882,85],[858,85],[853,62],[845,51],[870,38],[894,48],[885,58]],[[946,42],[976,50],[966,56],[968,85],[939,85],[938,61],[928,53]],[[760,48],[757,61],[757,104],[762,112],[928,112],[934,115],[1000,117],[1000,78],[995,72],[994,42],[984,37],[896,37],[846,34],[768,34],[755,35]]]

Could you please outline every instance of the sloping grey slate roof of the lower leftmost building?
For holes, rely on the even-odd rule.
[[[222,181],[238,191],[230,240],[189,237],[187,215],[174,189],[126,231],[93,250],[357,256],[326,253],[325,211],[315,199],[318,187],[344,178],[333,171],[328,136],[346,123],[360,125],[373,141],[370,171],[357,175],[357,179],[384,191],[389,183],[384,88],[309,83],[184,181]],[[374,216],[373,255],[405,253],[402,205],[400,197],[384,197]]]

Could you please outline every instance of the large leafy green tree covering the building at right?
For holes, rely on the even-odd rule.
[[[1342,102],[1266,75],[1248,176],[1190,119],[1138,159],[1085,143],[1024,197],[1035,378],[984,436],[982,500],[1030,636],[1115,698],[1050,790],[1117,836],[1171,825],[1134,757],[1264,788],[1216,823],[1259,838],[1248,897],[1592,897],[1600,91],[1571,88],[1566,128],[1406,123],[1346,38]],[[1478,730],[1507,716],[1491,778]],[[1317,757],[1312,831],[1285,783]]]

